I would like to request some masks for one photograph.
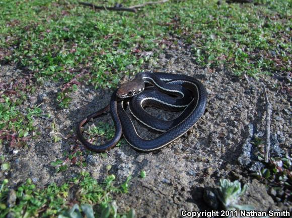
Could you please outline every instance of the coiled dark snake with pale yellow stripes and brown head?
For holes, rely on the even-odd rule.
[[[77,136],[87,149],[94,152],[104,152],[113,148],[122,135],[136,151],[158,151],[184,135],[196,124],[205,111],[206,102],[206,88],[194,77],[163,72],[140,72],[133,80],[120,85],[113,92],[107,106],[78,123]],[[161,134],[155,139],[141,138],[126,113],[127,106],[130,114],[143,126]],[[149,115],[144,110],[147,106],[182,113],[174,120],[162,121]],[[115,125],[114,137],[103,145],[91,144],[84,138],[82,127],[108,112],[111,113]]]

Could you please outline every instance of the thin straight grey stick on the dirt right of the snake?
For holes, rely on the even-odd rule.
[[[272,105],[269,102],[268,99],[268,94],[266,91],[266,87],[263,84],[263,88],[264,88],[264,95],[265,95],[265,110],[266,110],[266,144],[265,144],[265,162],[268,163],[269,162],[269,158],[270,158],[270,126],[271,126],[271,112],[272,112]]]

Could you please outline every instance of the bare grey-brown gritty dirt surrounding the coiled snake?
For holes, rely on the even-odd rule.
[[[272,76],[261,75],[255,79],[235,76],[224,67],[202,69],[194,63],[190,49],[184,45],[170,47],[152,60],[151,64],[144,65],[145,71],[194,76],[207,89],[205,113],[184,136],[154,153],[139,153],[127,144],[110,150],[105,158],[89,153],[84,156],[88,163],[86,167],[72,166],[65,172],[56,173],[50,162],[57,158],[63,160],[63,152],[72,146],[79,145],[84,150],[76,139],[76,123],[104,107],[112,90],[96,90],[82,84],[71,94],[73,100],[69,108],[60,109],[55,99],[61,84],[45,81],[34,94],[29,94],[20,110],[25,112],[27,107],[40,105],[42,111],[51,117],[35,118],[41,135],[30,140],[28,148],[0,147],[0,154],[11,162],[10,173],[1,173],[0,176],[10,178],[11,187],[27,178],[43,187],[51,182],[60,184],[80,171],[88,171],[102,180],[107,175],[108,165],[112,166],[108,173],[116,175],[117,182],[122,182],[129,174],[138,176],[144,170],[147,177],[133,179],[128,194],[115,196],[121,210],[134,207],[137,217],[180,217],[181,210],[204,211],[210,209],[210,205],[216,207],[218,200],[214,198],[208,202],[204,192],[218,187],[221,178],[238,179],[248,184],[249,189],[241,201],[258,210],[291,208],[290,201],[277,202],[262,182],[250,176],[261,166],[255,154],[263,152],[263,147],[255,148],[250,143],[255,135],[263,137],[265,132],[262,83],[272,104],[271,156],[291,153],[290,93],[285,87],[276,87],[276,84],[290,79],[290,73],[274,72]],[[1,66],[0,72],[3,81],[15,81],[24,74],[9,65]],[[110,122],[110,116],[100,120]],[[139,127],[139,132],[149,134],[142,127]],[[55,143],[53,135],[60,137],[61,141]]]

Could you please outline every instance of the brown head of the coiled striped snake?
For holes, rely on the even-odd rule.
[[[117,90],[117,96],[119,98],[131,97],[133,95],[139,94],[144,90],[144,83],[132,80],[121,84]]]

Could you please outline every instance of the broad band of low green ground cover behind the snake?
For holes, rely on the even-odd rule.
[[[38,81],[78,78],[112,87],[148,61],[141,51],[157,56],[181,39],[192,45],[202,66],[223,64],[236,74],[254,76],[291,70],[290,1],[216,2],[172,1],[133,14],[95,12],[76,1],[2,1],[0,57],[27,67]],[[115,3],[107,1],[108,6]],[[125,6],[138,3],[123,1]],[[128,65],[133,68],[126,70]]]

